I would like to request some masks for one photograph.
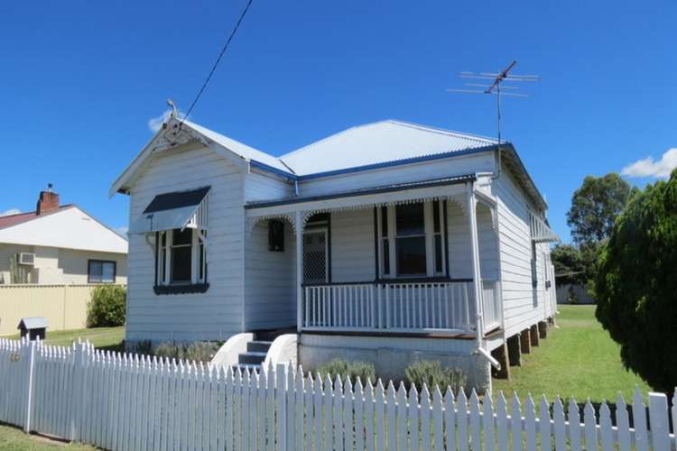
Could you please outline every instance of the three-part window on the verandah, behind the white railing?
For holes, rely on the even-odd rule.
[[[446,272],[443,202],[380,207],[376,226],[383,277],[433,277]]]

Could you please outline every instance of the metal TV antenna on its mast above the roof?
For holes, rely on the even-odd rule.
[[[447,89],[447,92],[453,93],[463,93],[463,94],[490,94],[496,96],[496,134],[498,137],[498,170],[494,175],[496,179],[501,174],[501,97],[529,97],[528,94],[522,94],[520,92],[515,92],[519,87],[513,85],[503,86],[504,81],[531,81],[538,82],[541,78],[538,75],[515,75],[510,74],[517,64],[516,60],[513,60],[508,66],[498,73],[488,73],[488,72],[461,72],[459,73],[459,78],[469,79],[469,80],[486,80],[485,83],[489,81],[491,84],[481,84],[478,82],[465,83],[465,86],[471,87],[462,88],[462,89]],[[501,87],[507,90],[508,92],[502,92]]]

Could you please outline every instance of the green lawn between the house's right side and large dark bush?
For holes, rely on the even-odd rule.
[[[548,337],[522,354],[522,366],[510,367],[510,381],[494,382],[495,394],[517,391],[520,398],[555,395],[579,402],[616,400],[618,391],[626,401],[632,399],[635,385],[650,391],[635,373],[626,371],[620,360],[620,346],[608,336],[595,318],[594,306],[559,306],[557,326],[550,327]]]

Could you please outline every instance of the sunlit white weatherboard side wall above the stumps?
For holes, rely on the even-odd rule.
[[[545,318],[543,295],[532,286],[530,201],[507,172],[494,181],[500,230],[500,274],[505,336],[513,336]],[[540,244],[547,251],[547,244]],[[547,251],[549,252],[549,251]],[[543,262],[540,262],[543,264]]]

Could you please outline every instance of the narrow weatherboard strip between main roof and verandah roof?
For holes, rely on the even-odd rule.
[[[320,196],[340,191],[381,187],[395,183],[442,179],[493,170],[494,164],[493,153],[485,152],[413,164],[388,166],[375,170],[360,170],[321,179],[301,180],[299,182],[299,193],[303,197]]]

